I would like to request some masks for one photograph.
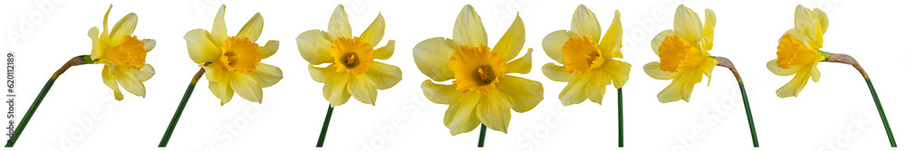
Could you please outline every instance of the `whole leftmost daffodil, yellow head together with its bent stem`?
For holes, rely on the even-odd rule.
[[[28,121],[34,115],[34,111],[53,86],[53,82],[72,66],[90,63],[103,64],[101,79],[113,90],[114,99],[123,99],[120,85],[136,96],[145,97],[145,85],[142,82],[154,76],[154,68],[145,63],[145,56],[151,49],[154,49],[157,42],[153,39],[139,40],[137,36],[132,35],[139,21],[139,16],[135,13],[126,14],[108,31],[107,17],[111,14],[112,9],[113,5],[110,5],[107,13],[104,14],[104,29],[101,35],[98,35],[97,27],[88,30],[88,37],[92,38],[92,54],[73,57],[63,64],[60,70],[53,73],[51,79],[47,80],[37,98],[34,99],[32,108],[25,112],[22,122],[16,127],[13,137],[7,141],[6,147],[15,145],[25,126],[28,125]]]

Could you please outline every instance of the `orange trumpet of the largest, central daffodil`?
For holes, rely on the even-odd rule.
[[[462,92],[486,94],[506,73],[506,61],[486,45],[459,46],[448,63],[456,78],[453,84]]]

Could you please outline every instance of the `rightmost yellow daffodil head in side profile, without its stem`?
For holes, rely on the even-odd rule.
[[[777,59],[767,61],[767,69],[776,75],[795,74],[793,80],[776,91],[777,97],[795,97],[799,91],[812,81],[821,78],[818,71],[819,61],[827,60],[833,53],[822,52],[824,31],[827,30],[827,14],[821,9],[809,10],[798,5],[795,8],[795,28],[784,33],[777,45]],[[826,55],[826,56],[825,56]]]

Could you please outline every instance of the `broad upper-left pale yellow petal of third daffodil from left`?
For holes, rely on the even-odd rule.
[[[311,64],[333,62],[329,48],[333,39],[328,33],[320,30],[305,31],[295,37],[302,58]]]

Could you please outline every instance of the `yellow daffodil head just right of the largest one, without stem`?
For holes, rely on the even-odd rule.
[[[548,79],[569,82],[560,92],[564,106],[585,99],[601,104],[607,85],[612,83],[613,88],[620,89],[629,80],[631,65],[615,60],[622,58],[620,11],[614,12],[610,29],[601,37],[597,17],[585,5],[579,5],[570,31],[549,33],[542,45],[551,59],[564,64],[547,63],[542,68]]]

